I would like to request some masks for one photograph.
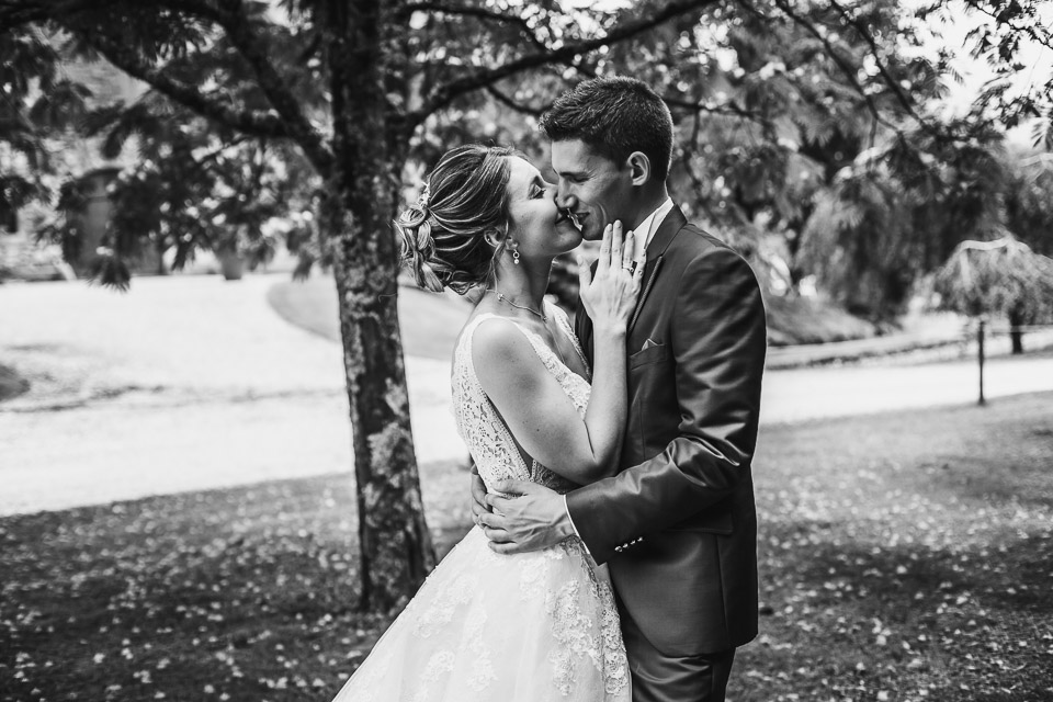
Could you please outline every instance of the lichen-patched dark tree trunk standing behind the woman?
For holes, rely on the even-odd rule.
[[[393,150],[387,138],[377,1],[332,0],[328,8],[336,159],[322,226],[333,248],[351,408],[360,604],[386,611],[411,596],[435,564],[396,308],[398,259],[390,219],[406,154]]]

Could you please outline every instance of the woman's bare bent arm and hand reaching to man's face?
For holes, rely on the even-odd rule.
[[[525,453],[580,485],[613,475],[625,428],[625,330],[642,269],[631,274],[632,235],[623,257],[621,226],[604,233],[596,279],[581,267],[581,296],[593,320],[592,394],[582,419],[529,340],[509,321],[478,326],[472,361],[484,392]],[[611,261],[616,261],[611,264]]]

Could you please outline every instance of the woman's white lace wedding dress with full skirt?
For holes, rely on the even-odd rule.
[[[562,309],[547,306],[581,349]],[[533,480],[565,492],[574,484],[536,461],[529,468],[472,364],[464,329],[453,362],[457,429],[492,489]],[[530,330],[548,371],[584,416],[590,386]],[[432,571],[333,702],[630,702],[630,673],[605,567],[580,540],[499,555],[475,526]]]

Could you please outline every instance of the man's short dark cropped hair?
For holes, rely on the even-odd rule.
[[[647,83],[614,76],[592,78],[559,95],[541,117],[550,141],[581,139],[602,156],[624,162],[633,151],[650,160],[665,181],[672,158],[672,115]]]

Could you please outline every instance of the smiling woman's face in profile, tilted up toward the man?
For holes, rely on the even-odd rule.
[[[556,206],[556,186],[529,161],[509,157],[509,236],[525,258],[555,258],[581,244],[581,233]]]

